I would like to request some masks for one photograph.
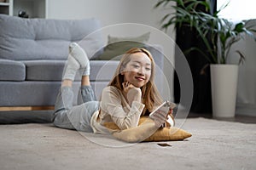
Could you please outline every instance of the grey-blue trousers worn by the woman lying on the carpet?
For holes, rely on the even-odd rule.
[[[55,102],[53,123],[56,127],[93,133],[90,119],[99,110],[99,102],[90,86],[80,88],[79,98],[83,100],[82,104],[73,106],[73,88],[61,87]]]

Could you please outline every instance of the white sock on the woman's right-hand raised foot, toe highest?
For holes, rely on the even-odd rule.
[[[72,42],[69,45],[69,53],[79,62],[80,69],[83,71],[82,75],[90,75],[90,61],[84,49],[78,43]]]

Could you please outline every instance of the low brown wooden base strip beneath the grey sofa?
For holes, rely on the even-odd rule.
[[[45,111],[54,110],[55,106],[13,106],[13,107],[2,107],[0,111]]]

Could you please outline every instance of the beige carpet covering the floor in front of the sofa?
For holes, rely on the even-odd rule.
[[[193,136],[125,144],[51,124],[0,125],[0,169],[256,169],[256,124],[189,118],[182,128]]]

